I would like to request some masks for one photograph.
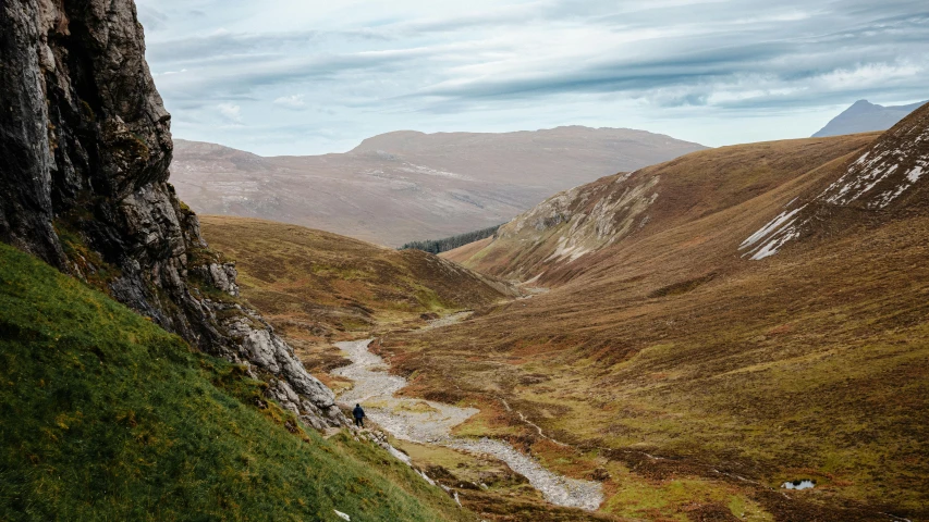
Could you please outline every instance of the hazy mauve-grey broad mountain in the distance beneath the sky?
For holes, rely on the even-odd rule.
[[[175,140],[171,181],[199,212],[399,247],[499,225],[549,195],[704,147],[643,130],[390,133],[344,154],[261,158]]]

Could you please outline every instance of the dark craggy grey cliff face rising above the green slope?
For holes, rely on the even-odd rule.
[[[344,424],[168,184],[170,119],[132,0],[0,2],[0,239],[248,364],[308,424]]]

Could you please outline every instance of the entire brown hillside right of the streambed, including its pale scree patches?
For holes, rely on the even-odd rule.
[[[550,291],[382,352],[408,395],[479,402],[463,431],[607,473],[607,513],[929,520],[927,112],[566,192],[451,256]],[[739,248],[806,201],[820,210],[777,254]]]

